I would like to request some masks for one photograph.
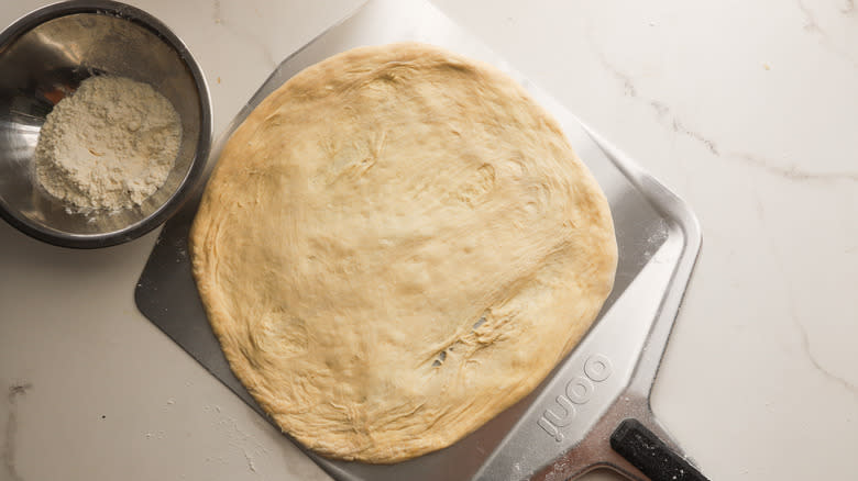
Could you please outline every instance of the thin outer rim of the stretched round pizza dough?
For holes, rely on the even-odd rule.
[[[311,81],[314,78],[317,77],[323,77],[327,71],[330,71],[332,69],[336,70],[340,65],[343,64],[348,65],[348,64],[361,61],[366,57],[372,57],[373,55],[377,55],[380,52],[382,53],[396,52],[397,55],[402,55],[402,56],[438,55],[439,53],[441,53],[442,55],[449,58],[455,59],[458,61],[466,63],[469,66],[479,70],[482,75],[491,77],[494,81],[513,83],[518,90],[524,92],[524,89],[517,82],[515,82],[506,74],[499,71],[495,67],[479,60],[473,60],[470,58],[459,56],[457,54],[452,54],[450,52],[430,45],[416,44],[416,43],[402,43],[402,44],[388,44],[388,45],[381,45],[381,46],[359,47],[351,51],[346,51],[341,54],[329,57],[318,64],[307,67],[306,69],[301,70],[296,76],[290,78],[288,81],[286,81],[283,86],[277,88],[266,99],[264,99],[263,102],[253,112],[251,112],[251,114],[244,120],[244,122],[235,130],[235,132],[232,134],[229,142],[224,145],[224,148],[219,157],[218,166],[216,166],[215,171],[209,180],[209,186],[218,183],[219,172],[221,170],[220,167],[223,165],[221,160],[230,156],[240,155],[237,150],[239,150],[239,145],[242,143],[244,136],[248,135],[249,132],[255,130],[260,124],[264,123],[265,119],[272,112],[272,109],[279,105],[280,98],[289,94],[289,89],[293,86],[299,82]],[[530,99],[530,96],[528,96],[527,93],[525,93],[525,97]],[[559,126],[557,121],[550,114],[548,114],[541,105],[532,101],[532,99],[530,99],[530,101],[532,102],[534,108],[540,111],[547,124],[551,125],[557,131],[562,132],[562,128]],[[568,143],[565,135],[563,135],[563,138]],[[600,204],[601,209],[604,209],[609,213],[609,209],[607,206],[607,201],[604,198],[604,193],[602,192],[601,188],[596,183],[595,179],[592,177],[592,174],[583,165],[583,163],[581,163],[581,160],[578,158],[578,156],[574,154],[571,147],[570,147],[570,153],[572,155],[572,161],[580,164],[583,174],[585,174],[585,176],[582,176],[579,179],[579,182],[581,182],[584,186],[584,188],[597,193],[597,198],[593,199],[594,202]],[[248,362],[244,355],[240,351],[240,349],[235,347],[235,345],[230,339],[232,335],[228,328],[230,323],[229,322],[230,314],[228,310],[223,306],[222,300],[220,299],[216,287],[212,286],[210,279],[208,279],[206,276],[208,266],[212,261],[212,257],[216,255],[210,251],[210,248],[211,248],[211,239],[213,238],[212,236],[217,235],[217,233],[211,232],[212,226],[209,223],[207,223],[205,220],[212,215],[210,213],[210,209],[212,209],[212,203],[213,203],[212,195],[216,194],[217,194],[216,190],[212,190],[211,188],[207,187],[206,192],[204,193],[202,197],[200,209],[194,220],[194,224],[189,235],[188,240],[189,240],[190,256],[193,259],[194,277],[197,283],[200,299],[204,301],[206,313],[212,326],[212,331],[215,332],[216,336],[218,337],[221,344],[221,348],[223,349],[223,353],[230,363],[231,369],[235,373],[237,378],[242,382],[242,384],[249,390],[251,395],[253,395],[254,400],[260,404],[260,406],[266,413],[272,413],[273,411],[275,411],[275,404],[272,403],[271,400],[266,399],[265,396],[258,395],[258,393],[256,393],[252,389],[252,387],[256,383],[255,379],[257,378],[258,373],[255,371],[253,366],[251,366],[250,362]],[[614,268],[610,270],[609,279],[604,280],[605,288],[606,288],[605,295],[597,303],[596,311],[593,314],[592,318],[588,320],[588,322],[582,323],[578,326],[570,326],[571,328],[575,328],[575,332],[571,333],[569,340],[566,343],[566,348],[564,349],[562,355],[558,358],[558,362],[562,360],[572,350],[572,348],[579,344],[579,342],[584,336],[584,334],[586,334],[590,326],[593,324],[595,317],[598,314],[598,307],[602,305],[605,298],[607,298],[608,293],[610,292],[610,288],[613,287],[614,271],[616,270],[615,268],[617,261],[617,251],[616,251],[617,247],[614,237],[613,222],[610,221],[609,214],[607,215],[607,219],[608,219],[608,225],[606,227],[608,228],[608,232],[606,232],[606,234],[609,234],[610,239],[614,242],[610,243],[609,245],[605,245],[604,247],[605,247],[605,255],[608,258],[608,262],[613,262]],[[286,433],[290,437],[296,438],[304,446],[308,447],[309,449],[322,456],[330,457],[333,459],[346,460],[346,461],[356,460],[356,461],[363,461],[370,463],[400,462],[407,459],[411,459],[451,446],[452,444],[457,443],[461,438],[479,429],[481,426],[483,426],[485,423],[487,423],[493,417],[498,415],[501,412],[510,407],[512,405],[520,401],[522,398],[525,398],[527,394],[532,392],[532,390],[536,389],[556,367],[557,365],[548,367],[547,369],[543,370],[543,372],[534,372],[532,376],[528,377],[526,382],[519,384],[517,389],[506,392],[505,395],[503,395],[503,400],[504,400],[503,403],[497,404],[496,410],[494,410],[488,414],[480,413],[479,418],[475,418],[472,423],[459,423],[459,424],[448,425],[447,429],[443,433],[441,433],[442,436],[428,436],[428,437],[413,438],[408,440],[408,443],[406,444],[402,444],[397,441],[398,446],[385,447],[385,449],[372,450],[366,452],[358,452],[358,454],[342,452],[341,450],[338,449],[336,443],[334,444],[326,443],[324,439],[317,437],[312,433],[302,433],[302,432],[296,433],[295,430],[290,429],[292,426],[288,424],[287,420],[284,420],[276,414],[273,415],[273,418],[284,433]]]

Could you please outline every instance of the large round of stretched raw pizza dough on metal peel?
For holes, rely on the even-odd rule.
[[[520,400],[608,295],[607,202],[557,122],[493,67],[353,49],[265,99],[190,237],[238,378],[321,455],[395,462]]]

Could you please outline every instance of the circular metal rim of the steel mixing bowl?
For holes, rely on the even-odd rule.
[[[25,217],[15,215],[8,209],[6,202],[0,199],[0,216],[24,234],[55,246],[91,249],[114,246],[147,234],[173,216],[188,200],[189,194],[201,180],[202,172],[208,163],[212,137],[212,112],[211,98],[206,77],[202,75],[202,70],[197,64],[197,60],[182,38],[155,16],[136,7],[122,2],[113,0],[67,0],[33,10],[12,22],[12,24],[0,32],[0,53],[6,46],[10,45],[34,27],[51,20],[77,13],[96,13],[116,16],[133,22],[155,34],[178,53],[183,64],[185,64],[194,78],[194,83],[197,87],[200,100],[200,135],[197,141],[194,158],[190,161],[190,168],[182,179],[182,182],[179,182],[179,186],[170,194],[169,199],[152,214],[134,224],[105,234],[69,234],[31,223]]]

